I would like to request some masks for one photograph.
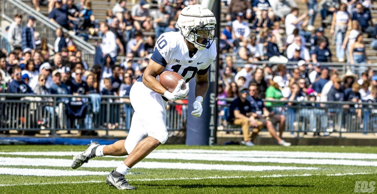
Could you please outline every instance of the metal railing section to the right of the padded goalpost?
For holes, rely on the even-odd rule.
[[[242,131],[240,126],[227,120],[233,99],[218,99],[228,102],[218,105],[218,130]],[[302,101],[271,101],[275,104],[267,107],[275,115],[285,116],[285,131],[299,132],[338,132],[342,133],[376,133],[377,103],[353,102],[302,102]],[[288,106],[287,103],[292,103]],[[271,116],[271,121],[274,116]]]

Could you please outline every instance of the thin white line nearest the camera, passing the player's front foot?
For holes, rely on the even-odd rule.
[[[181,178],[166,178],[166,179],[128,179],[128,181],[158,181],[158,180],[202,180],[202,179],[239,179],[239,178],[274,178],[274,177],[301,177],[301,176],[346,176],[357,174],[372,174],[372,173],[338,173],[338,174],[273,174],[267,176],[212,176],[212,177],[181,177]],[[83,183],[103,183],[104,181],[89,180],[89,181],[74,181],[74,182],[55,182],[55,183],[21,183],[21,184],[0,184],[0,186],[24,186],[24,185],[60,185],[60,184],[83,184]]]

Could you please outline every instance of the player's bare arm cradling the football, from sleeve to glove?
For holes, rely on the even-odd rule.
[[[165,67],[156,63],[153,60],[149,60],[149,64],[143,73],[143,83],[149,89],[164,95],[166,89],[161,85],[161,83],[156,79],[156,77],[164,71]]]

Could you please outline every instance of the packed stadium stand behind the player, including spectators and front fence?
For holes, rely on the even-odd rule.
[[[29,0],[23,2],[30,9],[35,8],[35,2],[32,3]],[[126,97],[132,83],[148,65],[154,43],[158,38],[155,37],[156,20],[158,23],[164,22],[159,25],[164,27],[165,32],[176,30],[174,26],[179,10],[190,3],[200,3],[200,0],[120,2],[51,0],[49,2],[47,3],[49,5],[44,2],[46,5],[42,3],[39,6],[39,13],[50,19],[54,18],[54,21],[62,24],[69,32],[56,30],[54,38],[52,35],[43,37],[40,32],[38,37],[37,32],[41,31],[38,26],[42,25],[39,21],[41,17],[29,17],[33,14],[27,14],[28,18],[24,17],[20,26],[13,23],[9,25],[6,32],[2,29],[0,35],[3,39],[0,43],[5,49],[2,50],[0,56],[0,64],[2,64],[0,65],[2,77],[0,91],[22,93],[25,96],[28,96],[26,93],[83,95],[77,101],[83,101],[82,105],[70,103],[73,96],[65,98],[55,96],[51,99],[40,96],[39,99],[32,99],[25,105],[19,105],[15,110],[20,113],[22,112],[18,111],[20,107],[29,108],[37,102],[43,104],[43,109],[39,113],[36,111],[39,110],[38,108],[34,109],[36,116],[30,118],[35,120],[32,122],[35,124],[32,127],[29,126],[34,130],[40,126],[48,129],[53,127],[54,130],[75,127],[85,130],[90,128],[127,130],[132,108],[127,104],[129,100],[127,101]],[[258,84],[259,97],[263,97],[263,100],[282,101],[282,103],[265,102],[265,105],[270,111],[286,117],[285,130],[314,132],[317,135],[319,132],[334,130],[374,132],[377,116],[374,112],[375,106],[362,110],[361,107],[368,106],[367,104],[360,106],[360,103],[377,101],[375,96],[377,30],[371,34],[363,32],[365,29],[359,28],[361,23],[357,24],[355,21],[358,17],[364,17],[365,13],[370,12],[371,23],[376,23],[377,2],[371,1],[368,4],[368,1],[360,0],[357,2],[365,3],[340,5],[339,2],[347,1],[307,0],[306,2],[317,2],[319,5],[316,15],[308,10],[308,5],[302,0],[282,0],[283,3],[279,5],[270,0],[270,6],[266,2],[268,1],[221,1],[221,21],[218,21],[220,24],[218,30],[221,32],[218,48],[221,51],[218,96],[221,100],[218,101],[220,118],[218,129],[232,132],[241,130],[239,126],[227,120],[230,114],[228,106],[234,98],[238,97],[238,87],[248,88],[249,84],[254,82]],[[323,6],[322,2],[328,3]],[[62,6],[64,9],[52,9],[55,3],[55,6]],[[77,12],[70,5],[65,5],[66,3],[75,5]],[[342,6],[345,9],[340,8],[334,18],[332,14],[329,14],[330,11]],[[363,12],[360,12],[361,9],[356,9],[360,6],[364,9]],[[65,11],[66,7],[69,11]],[[324,11],[325,9],[327,11]],[[119,12],[122,10],[123,12]],[[280,11],[274,13],[274,10]],[[17,13],[13,14],[7,17],[17,20],[15,17]],[[321,16],[324,20],[321,20]],[[355,20],[352,21],[352,18]],[[313,26],[310,20],[313,21]],[[30,36],[32,25],[31,23],[29,26],[26,25],[26,21],[36,23],[37,30],[34,30],[33,37]],[[70,23],[66,24],[66,21]],[[4,26],[3,22],[2,25]],[[248,31],[250,34],[245,35],[244,33]],[[161,33],[160,30],[158,33]],[[359,33],[360,36],[358,36]],[[334,38],[333,35],[335,35]],[[13,40],[11,43],[10,37],[20,39],[20,42],[16,44]],[[97,53],[95,57],[91,55],[91,59],[87,58],[74,37],[81,37],[85,44],[90,43],[90,47],[95,48],[93,50]],[[32,46],[25,42],[31,43]],[[255,76],[257,67],[263,68],[262,77]],[[339,80],[341,86],[337,89],[333,87],[333,84],[337,85]],[[262,81],[264,84],[261,84]],[[99,97],[98,102],[100,107],[103,106],[101,108],[106,109],[107,112],[96,115],[95,111],[89,110],[87,114],[84,114],[86,115],[84,118],[80,118],[86,125],[72,126],[73,124],[69,123],[67,126],[65,120],[68,117],[63,118],[64,112],[69,108],[72,111],[71,114],[75,114],[75,111],[78,111],[76,114],[80,114],[83,105],[89,105],[92,108],[98,96],[96,100],[95,95],[89,96],[90,94],[102,95],[102,100]],[[9,103],[12,99],[20,97],[20,95],[6,95],[6,99],[10,100]],[[48,105],[49,100],[54,102],[54,106]],[[292,102],[287,100],[301,101],[301,103],[296,102],[292,105]],[[313,107],[303,109],[301,105],[307,106],[310,104],[307,103],[309,101],[315,101],[311,102],[314,103],[310,105]],[[327,101],[338,102],[332,104]],[[126,105],[123,106],[122,103]],[[170,116],[167,122],[170,122],[170,118],[174,119],[169,125],[170,129],[179,130],[184,127],[185,114],[182,111],[186,109],[185,103],[187,104],[183,101],[182,104],[171,105],[174,110],[169,110]],[[356,106],[352,103],[360,105]],[[287,108],[287,104],[291,108]],[[9,105],[4,104],[3,109],[7,108],[9,109]],[[342,110],[345,110],[347,114],[338,114]],[[84,111],[84,108],[81,111]],[[118,113],[121,113],[120,117],[113,117],[113,115],[119,115]],[[179,118],[174,116],[177,114],[180,115]],[[326,116],[310,120],[313,115],[321,114]],[[8,120],[10,118],[10,115],[3,114],[2,116]],[[21,121],[17,121],[21,123],[12,123],[13,125],[5,123],[2,126],[17,128],[20,124],[28,123],[22,119],[25,118],[21,117]],[[64,122],[61,121],[63,119]],[[325,123],[325,125],[320,125],[320,123]],[[351,123],[353,123],[352,126]],[[302,129],[299,129],[300,126]],[[20,129],[25,128],[26,126],[20,127]]]

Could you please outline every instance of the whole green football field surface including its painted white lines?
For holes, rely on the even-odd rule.
[[[118,191],[104,181],[124,157],[72,170],[85,149],[0,146],[0,193],[353,193],[377,181],[376,147],[162,145],[126,175],[138,189]]]

